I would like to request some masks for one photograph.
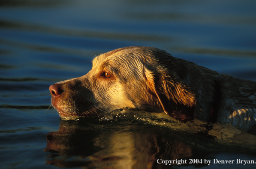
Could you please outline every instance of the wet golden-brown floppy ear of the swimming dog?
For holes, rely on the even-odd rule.
[[[162,73],[153,73],[146,68],[145,77],[148,87],[157,96],[166,114],[173,116],[175,111],[187,111],[195,107],[196,93],[181,80]],[[187,113],[192,116],[191,111]]]

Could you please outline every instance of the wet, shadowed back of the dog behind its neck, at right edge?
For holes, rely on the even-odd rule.
[[[256,82],[222,75],[217,121],[256,128]]]

